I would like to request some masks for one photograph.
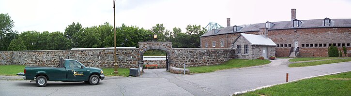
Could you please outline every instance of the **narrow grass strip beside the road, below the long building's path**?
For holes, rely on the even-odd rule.
[[[339,62],[348,62],[348,61],[351,61],[351,58],[293,63],[293,64],[290,64],[289,67],[315,66],[315,65],[331,64],[331,63],[339,63]]]

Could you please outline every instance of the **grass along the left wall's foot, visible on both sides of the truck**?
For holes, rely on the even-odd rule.
[[[24,65],[0,65],[0,75],[17,76],[16,74],[24,71]],[[128,77],[129,69],[119,68],[118,74],[114,74],[113,68],[103,68],[105,76],[125,76]]]

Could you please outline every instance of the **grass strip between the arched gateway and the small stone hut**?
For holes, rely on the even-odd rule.
[[[219,65],[211,65],[211,66],[200,66],[200,67],[188,67],[191,73],[205,73],[205,72],[213,72],[216,70],[223,69],[233,69],[233,68],[244,68],[251,66],[259,66],[271,63],[269,60],[245,60],[245,59],[231,59],[225,63]]]

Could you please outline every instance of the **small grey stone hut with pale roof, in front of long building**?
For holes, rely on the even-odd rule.
[[[236,49],[235,58],[256,59],[261,56],[264,58],[274,56],[277,45],[262,35],[240,33],[232,46]]]

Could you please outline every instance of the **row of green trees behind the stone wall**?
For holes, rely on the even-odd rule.
[[[113,47],[114,30],[109,23],[99,26],[82,27],[73,22],[62,33],[13,30],[14,21],[8,14],[0,14],[0,50],[64,50],[71,48]],[[173,42],[174,48],[198,48],[200,37],[206,32],[200,25],[187,25],[186,32],[179,27],[166,29],[163,24],[156,24],[151,29],[137,26],[116,27],[116,44],[120,47],[136,46],[139,41],[153,41],[153,34],[157,34],[157,41]]]

